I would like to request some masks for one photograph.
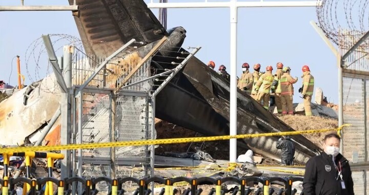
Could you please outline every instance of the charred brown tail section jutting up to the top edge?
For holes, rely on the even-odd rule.
[[[73,0],[68,0],[73,4]],[[137,0],[77,0],[74,19],[87,54],[106,57],[132,38],[149,44],[167,31],[147,7]]]

